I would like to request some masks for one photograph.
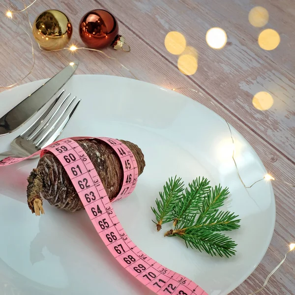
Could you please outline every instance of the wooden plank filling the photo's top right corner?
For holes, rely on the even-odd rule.
[[[192,0],[183,0],[194,3]],[[295,45],[295,31],[290,21],[295,17],[295,3],[292,0],[226,0],[223,5],[215,5],[215,1],[207,1],[207,13],[214,11],[225,25],[230,24],[231,33],[244,39],[245,44],[251,42],[251,50],[266,60],[270,65],[288,73],[294,78],[294,55],[290,48]],[[255,28],[248,21],[248,13],[255,6],[263,6],[269,14],[268,23],[262,28]],[[210,13],[210,15],[212,15]],[[281,42],[276,50],[264,51],[257,44],[258,34],[263,29],[275,29],[281,36]],[[248,41],[247,41],[248,40]],[[254,43],[252,43],[254,41]]]

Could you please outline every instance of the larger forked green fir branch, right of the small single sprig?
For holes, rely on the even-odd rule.
[[[174,181],[176,182],[176,178]],[[171,182],[172,178],[169,180],[169,183]],[[168,186],[167,183],[166,186]],[[177,190],[177,188],[175,189]],[[183,182],[181,189],[183,190]],[[164,207],[165,189],[164,195],[160,194],[160,196],[162,203],[157,200],[157,207]],[[212,188],[206,178],[199,177],[188,184],[188,188],[184,190],[181,197],[177,196],[174,206],[165,207],[166,209],[173,207],[173,211],[167,209],[164,218],[159,213],[164,210],[157,212],[153,208],[153,211],[157,221],[158,219],[162,220],[162,223],[164,223],[163,221],[172,221],[174,215],[175,229],[166,232],[164,236],[178,236],[184,240],[187,247],[206,251],[211,256],[218,255],[229,258],[236,254],[236,243],[229,236],[220,232],[238,229],[240,219],[233,212],[219,210],[228,196],[228,188],[223,189],[220,185]],[[158,225],[159,221],[157,228]]]

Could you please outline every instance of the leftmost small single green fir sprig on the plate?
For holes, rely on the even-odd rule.
[[[162,224],[172,221],[174,219],[173,210],[176,206],[179,198],[181,197],[183,191],[183,181],[177,176],[173,179],[169,178],[169,182],[163,186],[163,192],[159,192],[160,199],[156,199],[156,207],[151,207],[153,213],[155,214],[157,223],[157,231],[160,231]]]

